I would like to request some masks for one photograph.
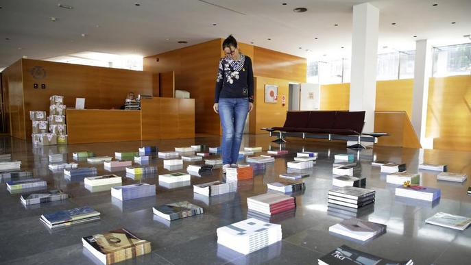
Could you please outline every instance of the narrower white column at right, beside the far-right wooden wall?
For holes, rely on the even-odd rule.
[[[415,42],[414,86],[411,123],[422,148],[433,148],[433,139],[425,138],[428,78],[432,71],[432,49],[428,40]]]

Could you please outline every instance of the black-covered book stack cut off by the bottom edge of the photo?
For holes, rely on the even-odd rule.
[[[317,262],[319,265],[413,265],[412,260],[402,262],[387,260],[383,257],[377,257],[370,253],[352,249],[346,245],[337,247],[337,249],[331,251],[330,253],[319,257]]]

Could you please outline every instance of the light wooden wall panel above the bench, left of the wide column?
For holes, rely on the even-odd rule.
[[[350,83],[321,86],[319,110],[348,110],[350,106]]]

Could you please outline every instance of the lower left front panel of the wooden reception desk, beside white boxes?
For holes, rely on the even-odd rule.
[[[141,112],[67,110],[69,144],[141,140]]]

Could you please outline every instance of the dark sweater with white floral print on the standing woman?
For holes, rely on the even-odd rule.
[[[254,72],[252,60],[241,54],[241,60],[222,58],[217,71],[215,103],[219,99],[248,98],[254,102]]]

